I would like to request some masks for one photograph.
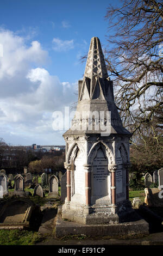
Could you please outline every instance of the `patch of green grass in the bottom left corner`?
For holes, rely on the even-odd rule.
[[[0,245],[34,245],[41,237],[37,232],[28,230],[0,230]]]

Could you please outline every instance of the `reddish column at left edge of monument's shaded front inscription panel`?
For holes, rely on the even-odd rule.
[[[84,164],[85,169],[85,204],[89,206],[91,204],[91,164]]]

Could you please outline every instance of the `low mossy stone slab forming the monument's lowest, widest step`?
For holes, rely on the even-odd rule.
[[[55,227],[55,235],[57,237],[65,235],[79,235],[87,236],[121,236],[121,235],[148,235],[148,223],[139,215],[132,215],[133,220],[129,222],[117,224],[81,224],[76,222],[64,221],[61,218],[61,207],[58,209],[57,223]],[[96,222],[98,223],[98,222]]]

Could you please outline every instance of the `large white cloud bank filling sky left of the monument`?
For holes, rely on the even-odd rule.
[[[40,42],[27,45],[25,38],[4,30],[0,30],[0,42],[4,45],[0,57],[1,137],[15,144],[31,144],[35,138],[37,144],[39,139],[47,143],[46,138],[53,137],[51,144],[55,143],[52,113],[75,101],[76,85],[61,83],[42,67],[48,52]]]

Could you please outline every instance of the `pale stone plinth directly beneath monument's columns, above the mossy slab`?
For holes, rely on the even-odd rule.
[[[128,219],[134,210],[130,201],[120,205],[109,206],[77,206],[66,202],[62,205],[62,219],[82,224],[117,224]]]

